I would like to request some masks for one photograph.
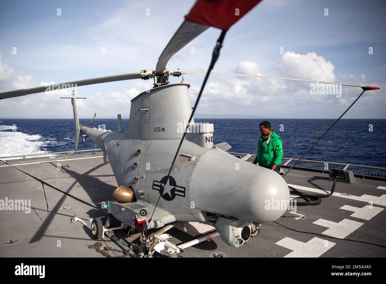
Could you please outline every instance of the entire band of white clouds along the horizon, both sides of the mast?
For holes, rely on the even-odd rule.
[[[0,85],[5,90],[34,87],[31,76],[22,76],[19,72],[0,61]],[[273,71],[279,77],[304,78],[321,81],[342,82],[353,85],[373,85],[364,74],[334,74],[334,65],[316,53],[298,54],[287,51],[281,56]],[[262,75],[256,62],[241,61],[232,73]],[[53,82],[41,82],[48,85]],[[80,97],[87,100],[77,100],[80,116],[87,116],[96,111],[98,116],[112,116],[118,113],[127,115],[130,112],[130,100],[136,95],[152,87],[152,80],[129,80],[124,88],[115,87],[104,91],[85,92],[81,89]],[[99,87],[98,87],[99,88]],[[108,91],[106,91],[108,90]],[[200,90],[200,85],[192,83],[189,93],[192,105]],[[211,76],[204,89],[197,112],[213,114],[257,114],[273,117],[335,117],[344,111],[359,95],[361,90],[353,87],[343,87],[342,97],[336,95],[311,95],[310,83],[284,80]],[[378,91],[377,91],[378,92]],[[358,103],[358,109],[371,109],[383,104],[382,96],[375,91],[366,92]],[[382,93],[381,93],[382,94]],[[66,91],[47,92],[44,94],[27,95],[1,100],[2,116],[56,115],[72,116],[69,100],[59,99],[60,96],[70,96],[71,89]],[[38,100],[37,100],[38,99]]]

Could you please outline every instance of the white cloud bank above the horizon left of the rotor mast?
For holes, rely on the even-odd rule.
[[[130,80],[123,92],[97,92],[87,95],[87,100],[78,99],[77,106],[80,117],[86,116],[87,111],[97,111],[100,115],[114,115],[130,112],[130,100],[146,89],[152,87],[151,80]],[[55,82],[40,82],[40,86],[47,86]],[[0,92],[7,90],[17,90],[20,88],[36,87],[36,83],[30,75],[22,76],[13,67],[3,64],[0,56]],[[54,90],[50,92],[32,94],[12,99],[0,100],[1,116],[49,116],[67,115],[72,116],[72,107],[69,99],[59,99],[59,97],[71,97],[73,88]],[[79,88],[75,88],[78,96]],[[84,91],[80,91],[84,97]]]

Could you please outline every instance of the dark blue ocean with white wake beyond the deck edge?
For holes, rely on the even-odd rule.
[[[256,153],[261,119],[196,119],[214,124],[213,143],[227,142],[229,151]],[[334,119],[270,119],[283,140],[284,157],[300,158]],[[83,125],[90,119],[80,119]],[[118,130],[117,119],[95,119],[93,126]],[[127,130],[129,119],[123,119]],[[13,127],[15,125],[15,127]],[[372,125],[372,131],[369,131]],[[15,131],[14,131],[15,130]],[[74,150],[73,119],[0,119],[0,156]],[[86,139],[78,150],[95,148]],[[341,119],[305,156],[308,160],[386,167],[386,119]]]

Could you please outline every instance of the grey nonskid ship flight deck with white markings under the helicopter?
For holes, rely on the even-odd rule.
[[[117,187],[111,167],[103,165],[100,153],[8,163],[91,204],[110,199]],[[293,169],[286,177],[288,184],[301,190],[323,192],[321,189],[329,191],[332,186],[326,173]],[[229,247],[217,236],[187,248],[184,254],[187,257],[209,257],[212,253],[222,253],[227,257],[385,257],[386,248],[376,245],[386,246],[386,182],[358,178],[357,181],[354,185],[337,182],[335,194],[322,199],[320,205],[298,206],[296,213],[306,218],[276,220],[293,230],[268,222],[262,224],[259,236],[242,247]],[[45,187],[45,191],[49,214],[42,185],[0,163],[0,199],[31,202],[30,213],[0,210],[0,256],[103,257],[88,248],[95,243],[91,231],[79,222],[70,223],[75,214],[88,222],[88,219],[100,217],[103,213],[49,187]],[[289,211],[285,214],[294,215]],[[213,224],[189,223],[187,233],[178,228],[168,233],[179,245],[210,230],[214,230]],[[127,240],[122,230],[115,230],[115,234]],[[138,241],[138,237],[139,233],[133,241]],[[15,243],[5,244],[16,239]],[[118,248],[107,238],[102,243]]]

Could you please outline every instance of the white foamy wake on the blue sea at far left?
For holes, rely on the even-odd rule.
[[[14,129],[14,127],[0,125],[0,157],[46,153],[40,150],[48,143],[48,141],[42,141],[42,136],[18,131],[1,131],[9,129]]]

